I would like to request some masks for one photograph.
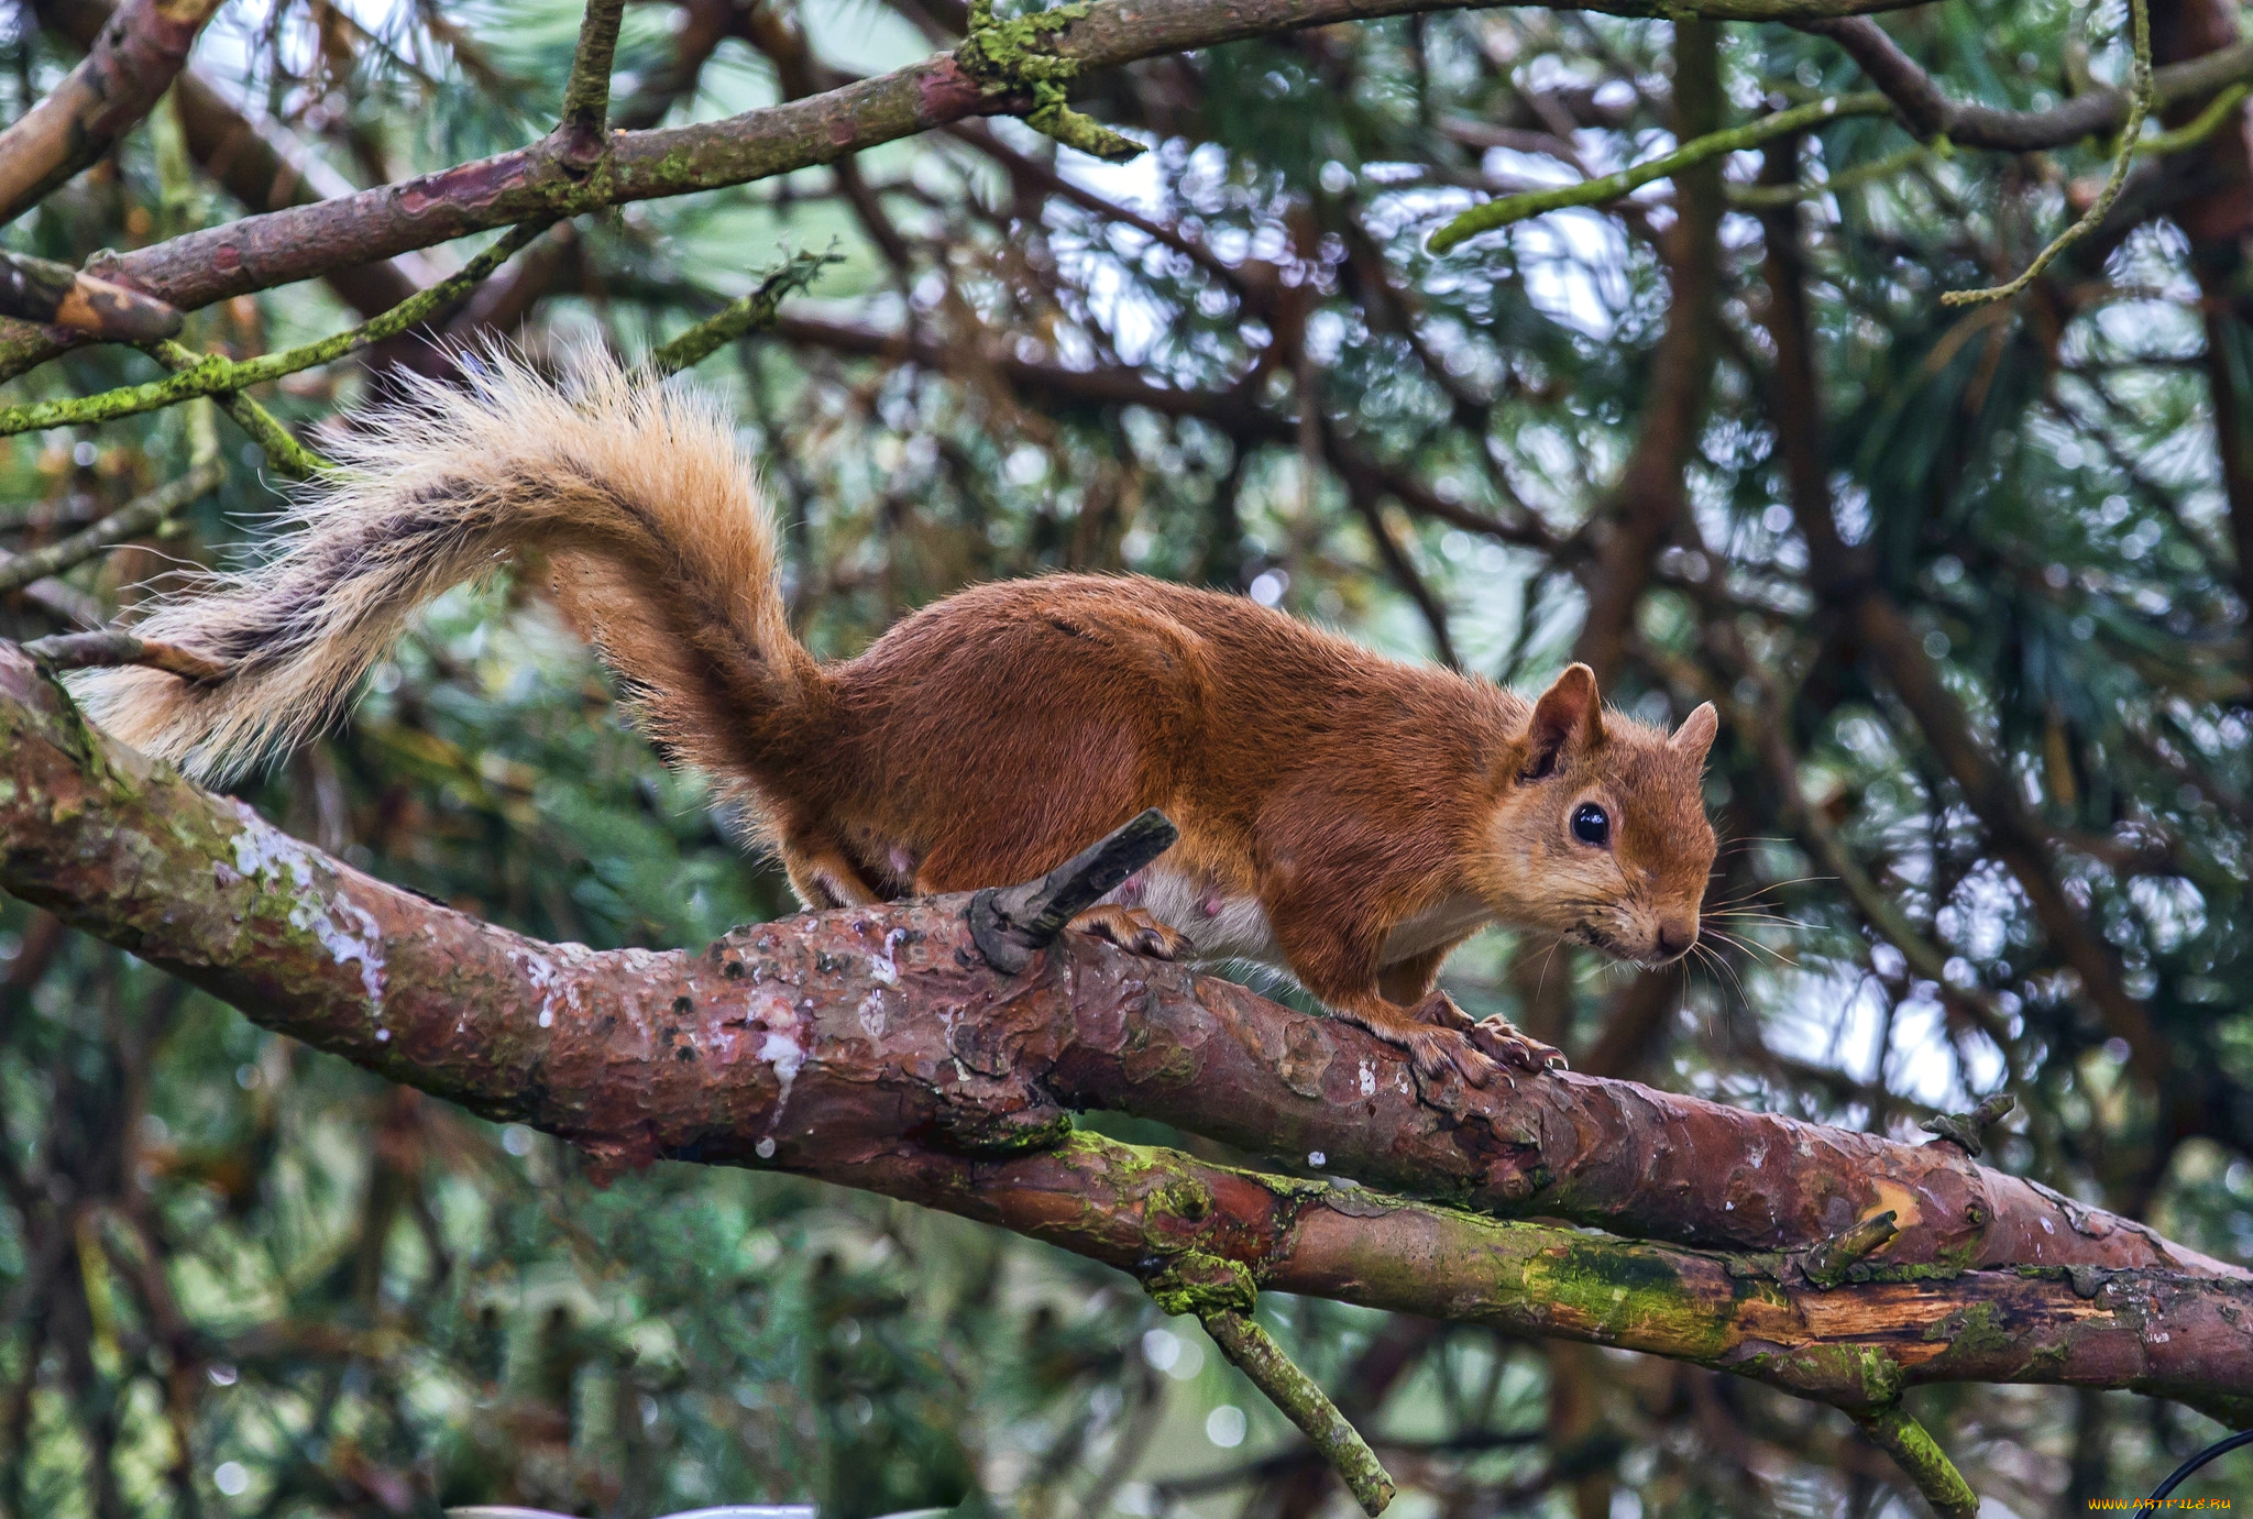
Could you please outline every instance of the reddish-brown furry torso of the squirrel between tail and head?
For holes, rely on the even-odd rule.
[[[834,764],[809,800],[863,874],[912,890],[1034,877],[1145,807],[1183,827],[1176,859],[1241,865],[1309,791],[1352,793],[1372,850],[1444,852],[1528,705],[1140,575],[971,586],[827,676]]]

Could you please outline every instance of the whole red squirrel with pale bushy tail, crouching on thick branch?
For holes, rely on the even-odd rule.
[[[1604,710],[1586,665],[1525,699],[1133,575],[971,586],[825,665],[710,399],[599,356],[566,385],[498,349],[464,370],[399,376],[264,561],[140,618],[223,681],[77,672],[86,714],[225,782],[336,719],[419,604],[534,552],[651,739],[807,908],[1032,879],[1160,807],[1178,843],[1072,926],[1282,969],[1422,1077],[1473,1086],[1564,1059],[1437,987],[1471,933],[1642,965],[1699,935],[1712,703],[1669,735]]]

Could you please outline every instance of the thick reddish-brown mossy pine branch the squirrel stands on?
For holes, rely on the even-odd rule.
[[[602,1167],[791,1170],[1142,1278],[1223,1258],[1282,1291],[1678,1357],[1850,1409],[1924,1382],[2064,1382],[2253,1422],[2253,1273],[1956,1145],[1575,1075],[1419,1089],[1361,1030],[1084,935],[996,971],[960,897],[703,951],[543,944],[110,744],[11,647],[0,773],[14,895]],[[1307,1156],[1318,1176],[1117,1145],[1068,1109]],[[1841,1285],[1816,1287],[1805,1249],[1886,1210],[1897,1231],[1834,1244],[1818,1260]]]

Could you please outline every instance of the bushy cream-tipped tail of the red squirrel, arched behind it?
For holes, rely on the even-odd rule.
[[[137,620],[230,678],[81,672],[86,714],[230,780],[338,717],[408,613],[536,550],[653,737],[743,789],[762,730],[804,732],[784,708],[813,696],[820,669],[784,618],[775,527],[728,421],[604,356],[563,388],[500,349],[462,370],[466,388],[401,374],[406,397],[360,417],[259,566]]]

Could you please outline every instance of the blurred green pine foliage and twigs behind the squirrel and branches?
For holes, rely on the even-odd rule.
[[[104,11],[18,0],[0,108],[50,90]],[[234,0],[158,113],[5,241],[79,261],[518,146],[554,119],[577,23],[563,0]],[[1886,25],[1994,106],[2125,72],[2116,0]],[[960,27],[955,0],[651,0],[615,119],[831,88]],[[1719,97],[1676,101],[1687,68]],[[1654,719],[1717,699],[1726,847],[1687,974],[1491,933],[1455,996],[1606,1075],[1902,1138],[2010,1089],[1994,1163],[2253,1262],[2253,491],[2226,467],[2253,345],[2212,203],[2242,133],[2235,160],[2221,133],[2138,171],[2014,307],[1938,293],[2021,266],[2089,201],[2102,144],[1911,153],[1847,119],[1719,180],[1424,252],[1476,198],[1633,162],[1692,110],[1845,88],[1865,86],[1834,45],[1751,25],[1480,11],[1237,43],[1088,81],[1151,144],[1131,165],[1000,119],[631,205],[559,228],[451,325],[261,399],[318,446],[385,367],[446,372],[448,336],[640,354],[789,250],[834,248],[773,331],[692,379],[764,460],[822,654],[969,581],[1136,570],[1500,681],[1586,654]],[[1881,171],[1825,189],[1856,165]],[[464,257],[232,300],[187,340],[322,336]],[[1697,338],[1687,397],[1663,394],[1669,329]],[[11,390],[146,374],[88,347]],[[1667,415],[1690,426],[1654,476]],[[198,406],[11,439],[0,541],[52,541],[212,437],[225,487],[70,590],[99,615],[255,550],[270,471]],[[1814,509],[1854,575],[1811,559]],[[1624,615],[1591,595],[1620,563]],[[1872,595],[1906,649],[1850,615]],[[56,627],[54,597],[5,615]],[[1947,701],[1906,701],[1899,660]],[[1949,760],[1965,744],[1987,791]],[[448,597],[342,732],[243,796],[547,938],[694,944],[793,910],[620,723],[536,572]],[[390,1091],[38,913],[0,922],[0,1512],[1350,1512],[1190,1321],[1102,1269],[784,1176],[597,1185],[541,1136]],[[2068,962],[2075,933],[2147,1048]],[[1262,1314],[1381,1436],[1408,1519],[1922,1512],[1845,1420],[1728,1377],[1325,1303]],[[1922,1400],[1992,1512],[2138,1494],[2215,1433],[2129,1395]],[[2206,1490],[2246,1492],[2219,1469]]]

